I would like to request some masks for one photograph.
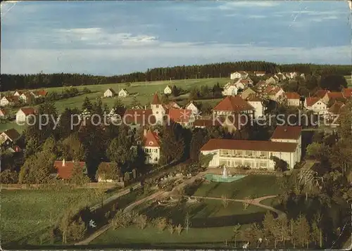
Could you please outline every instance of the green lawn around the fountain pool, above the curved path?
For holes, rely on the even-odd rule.
[[[258,198],[265,195],[279,194],[276,176],[249,175],[230,183],[211,182],[201,184],[196,190],[196,196],[221,197],[243,199],[247,196]]]

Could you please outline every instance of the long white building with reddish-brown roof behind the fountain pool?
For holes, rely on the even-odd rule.
[[[294,129],[294,131],[298,131],[298,129]],[[271,160],[271,157],[275,156],[287,162],[289,169],[293,169],[294,165],[301,161],[301,149],[297,143],[300,137],[301,134],[299,136],[293,133],[287,134],[287,136],[283,136],[284,142],[210,139],[201,148],[201,153],[212,155],[209,167],[225,166],[231,169],[231,167],[245,166],[253,169],[273,170],[275,162]]]

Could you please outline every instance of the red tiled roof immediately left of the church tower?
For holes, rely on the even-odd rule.
[[[155,124],[156,117],[153,115],[153,110],[151,109],[127,109],[123,115],[123,120],[127,124]]]

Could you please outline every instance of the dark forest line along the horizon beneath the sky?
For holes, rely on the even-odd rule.
[[[350,75],[351,65],[312,65],[292,64],[278,65],[264,61],[241,61],[228,63],[213,63],[208,65],[181,65],[175,67],[158,67],[146,72],[132,72],[125,75],[111,77],[84,74],[36,74],[36,75],[8,75],[1,74],[0,91],[15,89],[38,89],[59,86],[83,86],[89,84],[108,84],[123,82],[150,82],[168,79],[201,79],[208,77],[229,77],[237,70],[265,71],[276,73],[279,71],[298,71],[305,74],[319,75]]]

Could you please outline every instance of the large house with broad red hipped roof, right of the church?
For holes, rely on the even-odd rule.
[[[253,116],[255,108],[240,96],[227,96],[213,108],[213,116],[248,114]]]

